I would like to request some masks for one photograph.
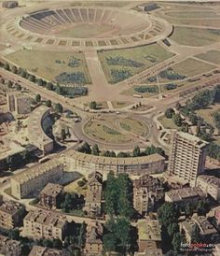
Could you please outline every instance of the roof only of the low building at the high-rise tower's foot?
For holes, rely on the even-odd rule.
[[[205,193],[200,188],[183,188],[179,190],[172,190],[166,192],[166,196],[169,196],[172,202],[179,202],[192,197],[205,197]]]

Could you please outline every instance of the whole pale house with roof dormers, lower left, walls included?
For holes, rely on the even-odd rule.
[[[22,235],[33,239],[64,239],[67,220],[59,213],[32,210],[23,219]]]

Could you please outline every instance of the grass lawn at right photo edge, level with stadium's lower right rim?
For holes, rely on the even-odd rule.
[[[220,30],[176,26],[171,38],[182,45],[206,46],[220,41]]]

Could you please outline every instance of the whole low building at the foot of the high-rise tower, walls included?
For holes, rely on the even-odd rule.
[[[197,204],[199,200],[205,199],[206,195],[198,187],[183,188],[165,192],[165,201],[176,206],[186,206],[186,204]]]

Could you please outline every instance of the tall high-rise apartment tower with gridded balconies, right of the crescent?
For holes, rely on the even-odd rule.
[[[204,171],[208,143],[197,136],[175,131],[172,133],[171,144],[169,174],[195,187],[197,177]]]

